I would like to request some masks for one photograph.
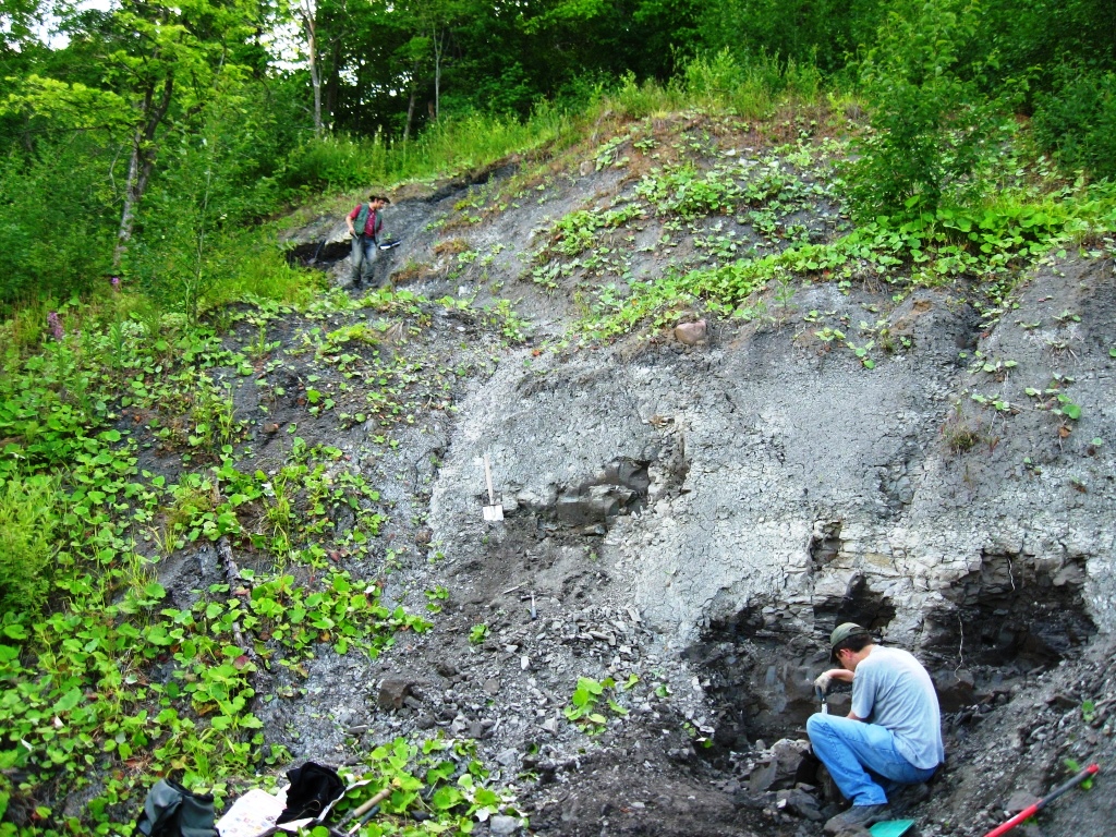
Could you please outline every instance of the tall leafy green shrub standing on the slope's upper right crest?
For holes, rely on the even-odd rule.
[[[872,132],[850,170],[859,214],[916,217],[971,198],[969,175],[998,128],[995,103],[963,55],[977,35],[965,0],[899,4],[881,28],[862,83]]]

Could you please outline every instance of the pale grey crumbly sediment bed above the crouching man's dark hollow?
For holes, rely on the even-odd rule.
[[[1110,358],[1087,341],[1072,358],[1038,340],[1013,353],[1021,381],[1076,374],[1089,421],[1064,440],[1030,404],[974,413],[970,394],[987,376],[958,362],[972,338],[963,307],[922,292],[893,315],[896,327],[913,311],[915,348],[872,371],[789,329],[503,365],[462,407],[432,525],[446,536],[471,526],[482,451],[512,514],[561,509],[608,463],[641,462],[646,506],[607,516],[607,533],[602,520],[596,551],[627,575],[648,624],[683,645],[745,610],[782,635],[820,636],[856,617],[904,645],[964,656],[960,619],[974,661],[1020,646],[1060,654],[1094,626],[1112,629],[1104,509],[1116,487],[1109,449],[1089,443],[1116,437]],[[991,354],[997,334],[978,350]],[[956,421],[981,434],[968,451],[943,437]],[[1067,609],[1077,616],[1055,613]],[[993,637],[999,610],[1011,618]],[[1043,652],[1042,632],[1024,626],[1043,619],[1066,622],[1071,638]]]

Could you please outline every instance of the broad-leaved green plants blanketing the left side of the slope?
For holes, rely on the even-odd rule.
[[[289,760],[266,739],[257,712],[298,698],[309,660],[375,657],[401,634],[431,627],[383,606],[381,585],[341,565],[393,568],[394,554],[376,542],[389,509],[357,464],[337,448],[306,442],[295,424],[281,461],[267,471],[244,463],[253,461],[250,436],[269,404],[288,397],[269,376],[301,355],[336,369],[329,379],[309,376],[299,404],[307,416],[333,400],[338,412],[356,403],[386,436],[413,420],[413,401],[443,396],[455,373],[432,365],[420,375],[424,360],[381,355],[382,327],[363,318],[329,330],[318,325],[352,311],[405,316],[421,330],[440,305],[389,291],[298,308],[256,299],[223,312],[227,327],[244,335],[238,349],[235,339],[183,315],[133,310],[121,295],[103,307],[64,306],[38,353],[8,345],[0,377],[0,807],[23,811],[61,782],[90,801],[60,825],[107,833],[131,815],[150,777],[181,775],[223,797],[231,780]],[[445,305],[460,316],[490,316]],[[491,316],[499,328],[503,320]],[[302,321],[301,346],[279,353],[267,339],[280,317]],[[376,385],[350,387],[354,377]],[[254,421],[233,405],[234,382],[240,383],[246,378],[262,394]],[[203,545],[243,566],[172,602],[156,568]],[[432,602],[446,596],[437,588]],[[280,672],[279,685],[264,690]],[[402,770],[400,758],[389,760]],[[431,828],[506,802],[474,779],[452,778],[452,787],[429,788],[439,800]],[[413,801],[393,800],[385,811]],[[33,820],[57,821],[39,807]],[[0,825],[0,834],[16,833]]]

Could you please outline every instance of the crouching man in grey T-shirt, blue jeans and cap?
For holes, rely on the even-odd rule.
[[[825,692],[835,680],[852,683],[853,711],[848,718],[811,715],[806,732],[814,754],[853,802],[825,825],[827,834],[838,834],[887,819],[882,782],[926,781],[945,761],[945,747],[937,693],[912,654],[876,645],[852,622],[837,626],[829,647],[830,658],[841,667],[825,672],[814,684]]]

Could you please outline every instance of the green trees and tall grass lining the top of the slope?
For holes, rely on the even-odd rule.
[[[1037,150],[1067,172],[1116,173],[1116,38],[1104,0],[314,8],[320,129],[305,62],[269,47],[269,32],[297,23],[292,4],[10,4],[0,305],[86,295],[115,273],[193,316],[238,260],[225,251],[250,247],[241,231],[304,195],[546,142],[569,114],[629,83],[683,79],[692,95],[724,94],[753,112],[770,105],[758,94],[787,85],[857,97],[874,128],[854,173],[866,215],[971,203],[973,175],[1010,117],[1029,117]],[[161,15],[177,35],[146,28]],[[36,26],[68,41],[48,45]],[[305,39],[300,49],[305,58]],[[136,113],[160,103],[167,79],[173,96],[140,144],[152,173],[122,260]]]

